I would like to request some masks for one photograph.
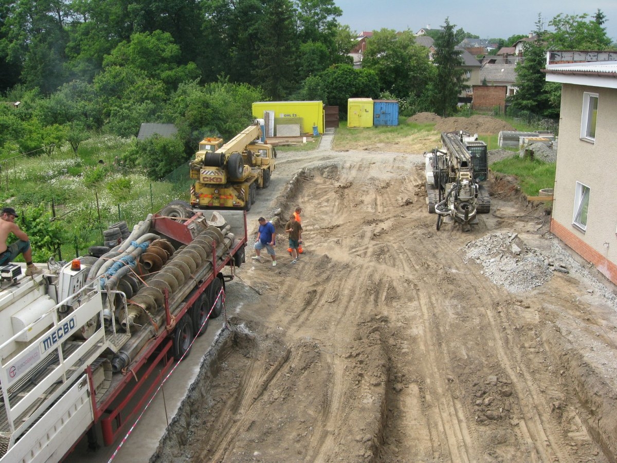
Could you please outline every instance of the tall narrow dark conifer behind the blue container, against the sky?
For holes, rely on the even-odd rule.
[[[431,83],[431,101],[436,114],[444,117],[452,115],[457,109],[458,95],[465,90],[465,70],[460,50],[455,48],[455,25],[445,19],[444,31],[437,36],[433,63],[437,67],[435,80]]]

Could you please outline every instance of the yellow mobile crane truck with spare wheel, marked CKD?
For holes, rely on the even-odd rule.
[[[191,161],[191,206],[231,207],[250,211],[257,188],[267,188],[275,169],[276,150],[262,143],[259,123],[249,125],[220,146],[220,138],[205,138]]]

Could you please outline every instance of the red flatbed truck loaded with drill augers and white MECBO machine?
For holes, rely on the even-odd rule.
[[[170,214],[173,213],[173,214]],[[224,309],[246,212],[174,201],[101,257],[0,268],[0,462],[60,461],[124,435]],[[223,274],[225,269],[229,269]]]

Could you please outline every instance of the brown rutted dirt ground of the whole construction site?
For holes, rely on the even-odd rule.
[[[248,213],[251,236],[260,215],[275,223],[278,265],[247,248],[226,288],[231,329],[151,461],[615,461],[615,288],[555,253],[545,207],[501,179],[471,231],[437,231],[431,147],[336,151],[331,138],[280,150]],[[297,205],[292,264],[283,225]],[[470,257],[504,237],[499,256]],[[563,271],[535,275],[525,254]],[[489,278],[489,257],[537,284]]]

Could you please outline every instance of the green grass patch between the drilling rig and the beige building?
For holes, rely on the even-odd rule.
[[[494,172],[513,175],[518,179],[521,191],[526,196],[538,196],[542,188],[553,188],[555,185],[555,163],[534,159],[521,159],[514,156],[491,164]]]

